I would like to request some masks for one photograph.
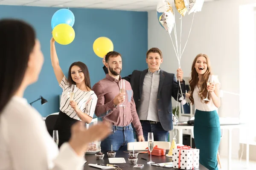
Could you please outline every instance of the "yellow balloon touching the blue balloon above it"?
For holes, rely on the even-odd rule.
[[[67,45],[75,39],[75,31],[68,24],[58,24],[52,30],[52,37],[61,45]]]

